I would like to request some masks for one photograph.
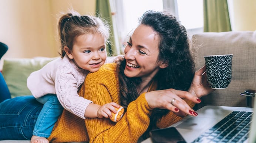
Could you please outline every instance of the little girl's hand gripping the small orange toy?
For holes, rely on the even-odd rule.
[[[119,108],[120,106],[117,103],[111,102],[111,103],[107,103],[107,104],[104,104],[104,105],[98,107],[97,117],[98,118],[103,118],[103,117],[111,118],[112,117],[111,111],[114,113],[117,113],[117,110],[115,109],[115,107]]]

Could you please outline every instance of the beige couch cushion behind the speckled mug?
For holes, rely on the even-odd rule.
[[[196,49],[196,69],[201,68],[206,55],[233,54],[232,80],[226,89],[218,89],[202,97],[198,107],[206,105],[245,107],[240,93],[256,88],[256,31],[208,32],[192,36]]]

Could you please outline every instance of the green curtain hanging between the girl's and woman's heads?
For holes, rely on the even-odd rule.
[[[110,2],[109,0],[96,0],[96,12],[95,15],[97,17],[101,17],[105,19],[109,26],[110,26],[110,38],[109,43],[107,43],[107,53],[108,56],[116,56],[117,50],[115,47],[115,38],[114,38],[114,29],[113,29],[113,22],[112,22],[112,15],[110,9]]]

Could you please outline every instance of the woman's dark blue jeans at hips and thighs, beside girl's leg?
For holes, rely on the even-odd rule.
[[[20,96],[0,103],[0,140],[30,140],[43,108],[33,96]]]

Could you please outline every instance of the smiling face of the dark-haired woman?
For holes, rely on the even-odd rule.
[[[146,25],[139,25],[125,47],[126,66],[124,74],[128,77],[141,77],[142,81],[151,80],[159,68],[159,38],[154,30]]]

